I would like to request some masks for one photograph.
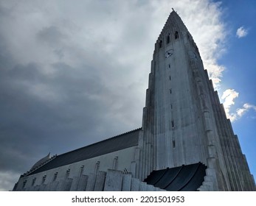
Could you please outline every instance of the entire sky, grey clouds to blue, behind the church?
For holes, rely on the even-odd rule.
[[[0,0],[0,191],[49,152],[142,126],[154,43],[172,7],[256,177],[256,1]]]

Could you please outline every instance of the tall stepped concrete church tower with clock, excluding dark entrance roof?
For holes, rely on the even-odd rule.
[[[140,180],[152,171],[200,167],[199,191],[255,190],[196,43],[174,10],[155,43],[138,153]]]

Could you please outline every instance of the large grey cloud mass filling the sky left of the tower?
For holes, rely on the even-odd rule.
[[[141,127],[150,55],[133,53],[145,46],[142,4],[137,13],[120,1],[47,5],[0,3],[0,179],[14,175],[9,189],[48,152]]]

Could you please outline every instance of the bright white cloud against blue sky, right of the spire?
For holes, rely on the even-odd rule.
[[[218,58],[226,51],[226,35],[228,35],[226,25],[221,20],[223,15],[221,2],[196,1],[196,4],[190,5],[184,10],[183,21],[193,35],[214,88],[218,90],[225,70],[224,65],[218,64]]]

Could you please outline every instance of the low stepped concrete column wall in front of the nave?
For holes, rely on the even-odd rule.
[[[97,174],[82,175],[23,188],[21,191],[162,191],[123,174],[122,171],[109,169],[107,172],[98,171]]]

